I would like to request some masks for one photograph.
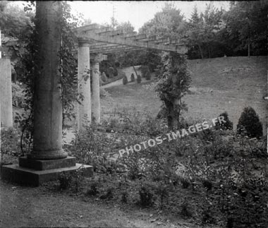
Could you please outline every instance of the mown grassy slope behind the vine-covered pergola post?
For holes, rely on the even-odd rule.
[[[185,97],[186,119],[212,119],[227,111],[236,126],[243,108],[251,106],[266,124],[267,105],[262,100],[267,94],[266,56],[195,59],[189,61],[189,70],[193,83]],[[130,71],[127,68],[127,75]],[[142,84],[149,83],[142,78]],[[135,107],[156,115],[162,103],[153,91],[141,85],[106,88],[111,99],[102,100],[102,114],[118,107]]]

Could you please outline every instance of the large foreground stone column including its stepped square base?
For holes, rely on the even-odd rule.
[[[62,150],[62,101],[60,56],[61,1],[37,1],[33,150],[18,164],[1,167],[1,179],[39,186],[59,179],[62,172],[82,170],[92,176],[93,167],[78,164]],[[89,62],[89,61],[88,61]]]

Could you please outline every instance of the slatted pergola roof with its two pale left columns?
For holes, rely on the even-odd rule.
[[[78,92],[84,96],[83,102],[78,104],[78,131],[87,124],[85,120],[100,121],[99,62],[106,60],[105,54],[140,49],[156,49],[180,54],[187,52],[187,48],[179,40],[114,30],[97,24],[76,28],[74,32],[78,38]],[[90,59],[92,60],[92,105],[90,80],[83,80],[85,72],[90,69]]]

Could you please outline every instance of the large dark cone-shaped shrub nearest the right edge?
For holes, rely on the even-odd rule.
[[[262,137],[262,124],[259,116],[252,107],[245,107],[240,119],[238,120],[237,133],[243,134],[250,138]]]

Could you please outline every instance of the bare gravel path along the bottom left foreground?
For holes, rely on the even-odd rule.
[[[188,223],[160,220],[156,214],[119,207],[94,198],[70,196],[47,188],[0,181],[0,227],[179,227]],[[190,226],[193,228],[193,226]]]

